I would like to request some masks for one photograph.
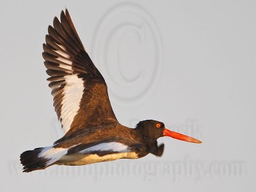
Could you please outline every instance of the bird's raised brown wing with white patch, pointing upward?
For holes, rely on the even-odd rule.
[[[44,64],[63,130],[86,127],[95,118],[116,120],[104,78],[77,35],[68,10],[54,18],[45,36]]]

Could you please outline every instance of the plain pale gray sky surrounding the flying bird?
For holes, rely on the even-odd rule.
[[[253,191],[255,1],[1,1],[1,191]],[[42,59],[67,6],[120,123],[156,119],[163,157],[22,173],[22,151],[63,134]]]

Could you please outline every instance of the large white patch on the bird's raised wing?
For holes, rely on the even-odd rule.
[[[67,132],[70,129],[74,117],[79,110],[79,104],[83,96],[83,79],[77,75],[64,76],[66,85],[63,90],[63,100],[61,102],[61,124],[63,130]],[[74,94],[76,93],[76,94]]]

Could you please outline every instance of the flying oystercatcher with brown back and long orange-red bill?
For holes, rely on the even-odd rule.
[[[201,143],[166,129],[162,122],[144,120],[135,129],[118,123],[111,108],[107,84],[85,51],[68,10],[53,20],[43,45],[44,65],[52,88],[54,108],[65,135],[50,147],[20,155],[23,172],[53,164],[83,165],[116,159],[162,156],[163,136]]]

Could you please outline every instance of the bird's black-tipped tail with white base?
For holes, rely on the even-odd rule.
[[[44,170],[60,159],[60,150],[54,147],[40,147],[26,150],[20,154],[20,163],[24,166],[23,172]]]

